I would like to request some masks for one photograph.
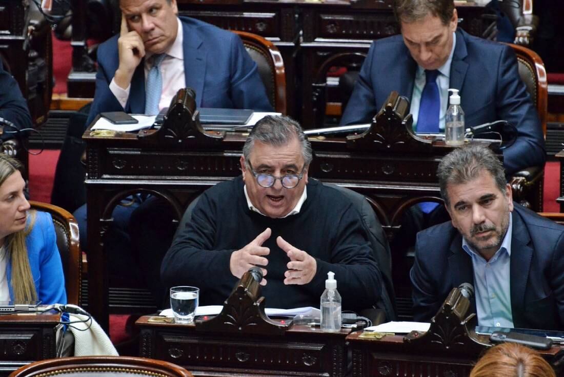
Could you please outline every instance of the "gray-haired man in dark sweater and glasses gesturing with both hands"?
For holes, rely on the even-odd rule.
[[[311,159],[296,122],[259,121],[243,148],[243,176],[206,190],[179,229],[161,266],[166,286],[197,286],[202,305],[221,305],[245,271],[261,266],[268,307],[319,307],[333,271],[343,309],[376,304],[382,278],[360,213],[308,177]]]

